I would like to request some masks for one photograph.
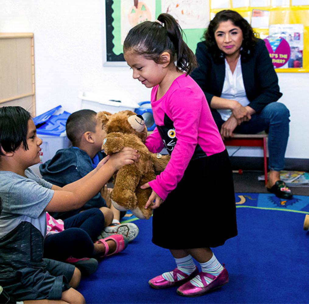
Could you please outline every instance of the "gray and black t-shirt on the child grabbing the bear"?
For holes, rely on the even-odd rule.
[[[23,267],[42,267],[46,235],[44,209],[53,198],[52,184],[31,169],[26,177],[0,171],[0,280]]]

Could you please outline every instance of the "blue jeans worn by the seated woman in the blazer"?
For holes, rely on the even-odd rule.
[[[250,105],[249,105],[250,106]],[[217,110],[212,109],[218,129],[224,121]],[[289,137],[290,112],[281,102],[271,102],[259,113],[253,114],[249,121],[241,123],[234,133],[255,134],[268,132],[268,167],[270,170],[280,171],[284,168],[284,155]]]

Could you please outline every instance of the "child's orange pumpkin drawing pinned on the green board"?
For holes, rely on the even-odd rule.
[[[144,21],[155,21],[155,0],[121,0],[121,44],[129,30]]]

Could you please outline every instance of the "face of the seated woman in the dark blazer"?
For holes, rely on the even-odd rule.
[[[226,56],[240,53],[241,44],[243,43],[243,31],[240,27],[235,26],[231,20],[219,23],[214,32],[214,38],[218,48]]]

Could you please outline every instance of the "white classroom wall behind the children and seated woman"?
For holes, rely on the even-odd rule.
[[[120,1],[120,0],[119,0]],[[205,5],[208,5],[205,1]],[[140,102],[150,90],[134,81],[128,67],[103,66],[104,0],[1,0],[0,32],[33,32],[36,113],[61,104],[81,108],[80,92]],[[0,63],[1,64],[1,63]],[[278,73],[291,113],[286,157],[309,158],[308,73]],[[261,149],[242,148],[235,156],[262,156]]]

